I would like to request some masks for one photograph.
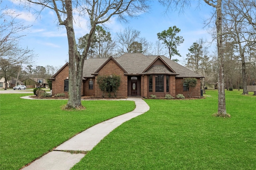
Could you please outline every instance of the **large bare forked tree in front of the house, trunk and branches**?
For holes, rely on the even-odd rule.
[[[146,12],[149,8],[146,0],[27,0],[27,2],[29,5],[31,3],[40,5],[42,10],[44,8],[53,10],[57,15],[59,24],[66,27],[69,55],[69,93],[66,109],[83,107],[81,104],[82,72],[96,25],[109,21],[113,16],[118,16],[119,20],[127,21],[126,16],[135,17],[138,13]],[[88,21],[90,24],[88,41],[82,54],[78,52],[75,39],[74,11],[78,11],[80,17],[88,15],[90,18]]]

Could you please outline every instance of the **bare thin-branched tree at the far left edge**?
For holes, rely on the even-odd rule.
[[[2,1],[0,1],[0,6]],[[2,7],[2,6],[1,6]],[[7,89],[7,80],[10,76],[17,75],[17,81],[23,64],[31,64],[34,61],[33,51],[28,48],[22,48],[19,40],[25,36],[20,33],[29,26],[24,26],[17,22],[18,17],[15,12],[8,7],[1,9],[0,20],[0,74],[4,76],[5,89]],[[17,69],[19,68],[19,69]],[[16,81],[16,83],[17,83]]]

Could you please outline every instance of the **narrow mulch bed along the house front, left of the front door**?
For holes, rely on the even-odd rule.
[[[43,98],[43,97],[39,97],[39,96],[30,96],[30,98],[34,98],[34,99],[68,99],[68,96],[64,96],[64,97],[56,97],[56,96],[52,96],[52,97],[48,97],[48,98]],[[114,99],[127,99],[127,97],[95,97],[95,96],[81,96],[82,100],[114,100]]]

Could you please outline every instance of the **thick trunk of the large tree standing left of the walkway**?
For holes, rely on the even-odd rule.
[[[82,62],[79,57],[76,39],[73,28],[72,2],[66,0],[67,18],[64,21],[68,36],[68,55],[69,55],[69,71],[68,71],[68,103],[66,109],[81,108],[81,92],[82,92]]]

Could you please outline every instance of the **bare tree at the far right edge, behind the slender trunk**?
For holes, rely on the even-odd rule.
[[[224,1],[224,31],[230,36],[230,41],[237,45],[238,59],[242,64],[243,93],[248,94],[246,63],[250,56],[250,46],[256,43],[256,6],[255,1]],[[254,18],[254,19],[253,19]]]

